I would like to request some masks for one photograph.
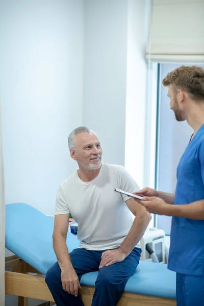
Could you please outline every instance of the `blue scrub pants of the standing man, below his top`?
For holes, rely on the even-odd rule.
[[[176,273],[176,305],[204,305],[204,275],[192,276]]]

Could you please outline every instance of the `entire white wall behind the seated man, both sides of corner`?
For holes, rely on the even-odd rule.
[[[149,3],[1,4],[6,203],[54,214],[57,188],[77,168],[67,135],[82,124],[98,133],[104,160],[143,186]]]

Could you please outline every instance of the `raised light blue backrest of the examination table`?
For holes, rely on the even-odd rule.
[[[54,220],[24,203],[6,205],[5,214],[6,247],[45,275],[57,261],[53,249]],[[67,245],[70,252],[79,245],[70,232]]]

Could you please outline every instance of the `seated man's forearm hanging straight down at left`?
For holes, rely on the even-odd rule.
[[[72,267],[69,252],[66,244],[66,238],[62,235],[53,236],[53,247],[58,259],[60,268]]]

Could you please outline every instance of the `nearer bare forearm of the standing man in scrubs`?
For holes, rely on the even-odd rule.
[[[195,201],[186,205],[168,207],[169,216],[183,217],[194,220],[204,220],[204,200]]]

